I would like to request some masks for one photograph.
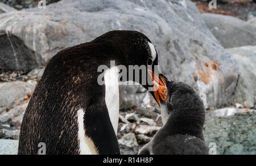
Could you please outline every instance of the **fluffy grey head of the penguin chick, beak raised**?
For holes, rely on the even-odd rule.
[[[183,82],[174,82],[163,74],[160,74],[160,78],[167,86],[167,100],[160,99],[163,124],[171,114],[181,117],[204,116],[203,100],[191,86]]]

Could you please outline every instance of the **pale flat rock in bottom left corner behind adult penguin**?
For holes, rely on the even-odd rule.
[[[18,154],[18,140],[0,139],[0,155]]]

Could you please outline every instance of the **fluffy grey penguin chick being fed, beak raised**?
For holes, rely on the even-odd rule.
[[[151,141],[142,147],[139,155],[207,155],[203,126],[205,108],[195,90],[182,82],[174,82],[160,74],[167,85],[167,100],[160,99],[161,109],[169,114],[164,126]]]

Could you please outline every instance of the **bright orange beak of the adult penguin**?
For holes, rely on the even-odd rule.
[[[166,80],[161,76],[160,79],[151,70],[147,70],[151,76],[153,86],[154,86],[154,98],[156,103],[160,106],[160,98],[163,101],[167,100],[167,87]],[[159,98],[160,96],[160,98]]]

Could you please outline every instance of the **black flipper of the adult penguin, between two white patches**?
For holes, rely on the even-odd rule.
[[[117,137],[104,101],[89,105],[84,113],[85,135],[92,139],[100,155],[120,154]]]

